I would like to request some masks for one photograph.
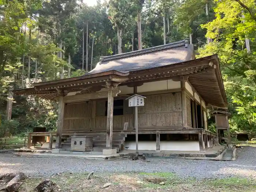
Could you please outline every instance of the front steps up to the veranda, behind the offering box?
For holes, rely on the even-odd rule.
[[[81,133],[76,136],[93,136],[93,151],[102,152],[106,148],[106,133]],[[124,149],[124,141],[126,138],[125,133],[113,133],[112,135],[112,149],[116,149],[117,153]],[[66,141],[62,142],[61,147],[66,151],[70,151],[71,137],[67,138]]]

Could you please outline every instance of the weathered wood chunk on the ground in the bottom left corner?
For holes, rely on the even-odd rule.
[[[25,178],[25,174],[19,173],[9,173],[0,176],[0,190],[5,190],[9,192],[18,191],[22,180]]]

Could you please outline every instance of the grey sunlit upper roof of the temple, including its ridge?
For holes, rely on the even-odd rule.
[[[86,75],[106,71],[129,72],[181,63],[193,59],[193,45],[186,40],[129,53],[101,57]]]

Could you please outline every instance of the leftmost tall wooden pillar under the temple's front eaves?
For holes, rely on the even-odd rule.
[[[55,148],[61,148],[61,138],[63,131],[63,117],[64,117],[64,102],[63,96],[59,96],[59,109],[58,109],[58,125],[56,133],[56,146]]]

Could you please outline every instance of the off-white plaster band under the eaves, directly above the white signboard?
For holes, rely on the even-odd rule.
[[[137,92],[143,93],[149,91],[162,91],[178,88],[180,88],[180,82],[175,82],[173,80],[163,80],[144,83],[142,86],[137,87]]]

